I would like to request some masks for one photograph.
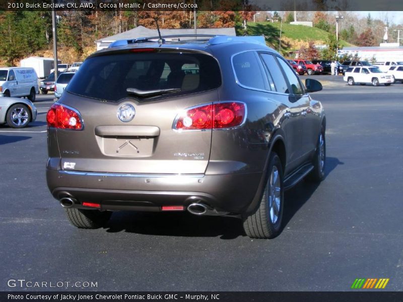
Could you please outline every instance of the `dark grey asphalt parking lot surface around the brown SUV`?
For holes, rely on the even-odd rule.
[[[38,96],[35,123],[0,126],[0,290],[25,290],[7,281],[26,279],[97,282],[90,290],[345,291],[356,278],[403,290],[403,84],[314,78],[328,81],[312,94],[327,115],[326,178],[286,193],[274,240],[249,239],[236,218],[188,213],[116,212],[104,229],[76,229],[46,186],[53,101]]]

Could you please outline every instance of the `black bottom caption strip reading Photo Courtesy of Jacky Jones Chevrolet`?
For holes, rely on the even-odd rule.
[[[0,301],[11,302],[400,302],[403,292],[390,291],[330,291],[330,292],[1,292]]]

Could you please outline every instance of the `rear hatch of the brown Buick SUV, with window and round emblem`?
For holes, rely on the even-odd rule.
[[[178,49],[135,48],[88,58],[60,99],[83,122],[82,130],[57,129],[61,168],[204,173],[212,130],[179,131],[173,126],[185,109],[218,101],[220,74],[211,55]],[[133,114],[131,120],[121,120]]]

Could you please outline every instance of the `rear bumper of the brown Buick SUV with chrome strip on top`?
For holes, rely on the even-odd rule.
[[[101,204],[101,210],[160,211],[163,205],[203,202],[231,213],[243,213],[258,190],[262,173],[225,175],[144,175],[46,170],[53,197],[73,197]]]

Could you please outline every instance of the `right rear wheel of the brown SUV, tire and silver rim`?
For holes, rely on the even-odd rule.
[[[267,182],[259,207],[254,213],[243,218],[246,235],[257,239],[271,239],[278,236],[282,228],[283,209],[283,167],[278,155],[273,153],[267,167]]]

